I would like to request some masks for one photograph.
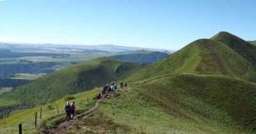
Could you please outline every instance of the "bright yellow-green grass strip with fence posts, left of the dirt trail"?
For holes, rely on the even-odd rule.
[[[94,98],[97,89],[87,91],[85,93],[76,94],[74,100],[76,101],[77,111],[85,110],[92,107],[95,103]],[[87,103],[89,98],[89,103]],[[0,119],[0,133],[18,133],[19,123],[22,123],[23,133],[38,133],[40,128],[44,126],[53,127],[56,123],[65,120],[65,107],[66,101],[64,99],[42,105],[40,107],[31,108],[24,112],[13,114],[10,117]],[[57,105],[60,115],[58,115]],[[42,119],[40,119],[40,108],[42,107]],[[49,107],[52,107],[51,110]],[[37,126],[35,128],[35,112],[37,112]]]

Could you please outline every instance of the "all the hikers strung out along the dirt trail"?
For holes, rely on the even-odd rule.
[[[120,89],[126,88],[127,87],[127,83],[125,82],[125,84],[123,82],[120,82]],[[115,82],[111,82],[111,84],[105,84],[102,88],[101,91],[97,92],[96,94],[96,98],[98,103],[100,103],[100,98],[102,98],[102,96],[106,93],[112,94],[116,91],[116,84]],[[67,114],[67,122],[69,122],[70,119],[73,119],[74,114],[75,114],[75,110],[76,110],[76,105],[75,102],[73,102],[71,105],[69,102],[67,102],[67,105],[65,105],[65,112]]]

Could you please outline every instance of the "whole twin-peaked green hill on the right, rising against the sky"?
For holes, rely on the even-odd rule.
[[[194,73],[239,77],[256,82],[254,64],[256,47],[232,34],[223,33],[216,34],[211,39],[193,41],[169,57],[145,68],[136,77],[132,76],[127,80],[142,80],[166,74]],[[225,36],[228,36],[227,39]]]

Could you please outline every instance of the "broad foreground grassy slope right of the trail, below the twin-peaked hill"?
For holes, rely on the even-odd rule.
[[[237,78],[153,78],[116,96],[104,100],[80,125],[107,133],[256,132],[256,84]]]

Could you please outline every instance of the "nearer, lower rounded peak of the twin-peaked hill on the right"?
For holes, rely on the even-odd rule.
[[[171,56],[145,68],[140,80],[166,74],[195,73],[239,77],[246,71],[248,61],[227,45],[214,40],[196,40]]]

